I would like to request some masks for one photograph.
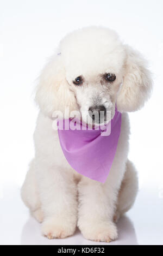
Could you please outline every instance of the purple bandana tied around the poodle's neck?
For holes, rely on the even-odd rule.
[[[66,120],[64,120],[66,122]],[[69,120],[68,120],[69,121]],[[82,130],[80,121],[76,129],[59,129],[60,145],[67,162],[79,174],[104,183],[115,157],[121,132],[121,113],[115,116],[104,129]],[[106,130],[110,129],[110,135]]]

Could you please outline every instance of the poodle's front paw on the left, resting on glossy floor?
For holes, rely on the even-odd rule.
[[[42,235],[48,239],[62,239],[74,234],[76,223],[65,223],[63,220],[48,218],[42,223]]]

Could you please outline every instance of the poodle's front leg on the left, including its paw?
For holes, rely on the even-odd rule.
[[[69,171],[39,162],[37,178],[44,220],[42,234],[48,239],[73,235],[77,225],[77,186]]]

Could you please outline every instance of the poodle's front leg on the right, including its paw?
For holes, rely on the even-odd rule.
[[[113,182],[112,177],[110,175],[105,184],[83,177],[78,184],[78,227],[85,239],[99,242],[117,239],[117,228],[112,219],[120,185]]]

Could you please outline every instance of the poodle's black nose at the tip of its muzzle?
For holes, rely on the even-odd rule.
[[[101,119],[106,116],[106,108],[103,105],[99,106],[90,106],[89,108],[89,115],[92,117],[92,120],[95,121],[96,114],[98,114],[98,122],[100,123]],[[96,120],[97,122],[97,120]]]

